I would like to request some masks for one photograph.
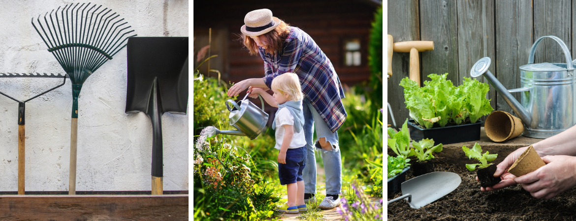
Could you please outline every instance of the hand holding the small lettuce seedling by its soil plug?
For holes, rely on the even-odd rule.
[[[502,179],[500,183],[497,183],[492,187],[480,187],[480,191],[482,192],[497,191],[498,189],[509,187],[511,185],[516,185],[517,183],[516,181],[514,181],[514,178],[516,178],[516,176],[508,172],[508,168],[510,168],[510,166],[514,164],[514,161],[516,161],[516,159],[518,159],[518,157],[520,157],[520,155],[524,153],[524,150],[526,150],[526,148],[528,147],[518,148],[517,150],[514,150],[514,152],[510,153],[504,159],[504,161],[502,161],[500,164],[496,166],[496,172],[494,173],[494,177],[500,177],[500,179]],[[476,180],[478,180],[478,177],[476,177]]]

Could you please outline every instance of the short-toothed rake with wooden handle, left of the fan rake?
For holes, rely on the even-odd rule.
[[[16,102],[18,102],[18,195],[24,195],[24,172],[25,172],[25,158],[26,158],[26,148],[25,148],[25,141],[26,141],[26,131],[25,131],[25,127],[24,127],[24,123],[25,123],[25,104],[26,102],[28,102],[29,100],[32,100],[34,98],[37,98],[40,95],[46,94],[47,92],[50,92],[60,86],[63,86],[66,83],[66,75],[60,75],[60,74],[40,74],[40,73],[0,73],[0,77],[56,77],[56,78],[62,78],[64,79],[62,84],[59,84],[56,87],[52,87],[51,89],[44,91],[40,94],[37,94],[36,96],[33,96],[32,98],[29,98],[27,100],[24,101],[20,101],[17,100],[15,98],[12,98],[12,96],[9,96],[7,94],[4,94],[3,92],[0,91],[0,94],[6,96],[7,98],[10,98],[12,100],[15,100]]]

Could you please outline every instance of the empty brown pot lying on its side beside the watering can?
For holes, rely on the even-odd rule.
[[[520,118],[514,117],[510,113],[494,111],[486,118],[484,129],[492,141],[504,142],[522,134],[524,125],[522,125]]]

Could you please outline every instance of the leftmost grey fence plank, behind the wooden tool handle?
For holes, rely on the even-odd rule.
[[[388,1],[388,34],[392,35],[394,42],[419,41],[418,21],[418,0]],[[410,53],[393,53],[392,77],[386,82],[388,84],[386,92],[397,126],[401,126],[406,118],[409,118],[408,109],[404,104],[404,88],[399,86],[400,80],[408,77],[409,64]],[[388,115],[388,123],[392,123],[390,115]]]

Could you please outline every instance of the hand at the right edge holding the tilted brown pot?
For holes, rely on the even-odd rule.
[[[552,199],[576,185],[576,157],[545,156],[542,160],[546,165],[514,179],[530,195],[537,199]]]

